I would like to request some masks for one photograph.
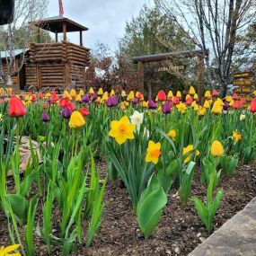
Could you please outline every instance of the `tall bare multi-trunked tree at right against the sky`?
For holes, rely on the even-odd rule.
[[[225,96],[237,37],[243,35],[255,19],[256,1],[155,0],[155,4],[177,26],[186,28],[190,40],[205,52],[208,83],[215,87],[217,81]],[[216,68],[211,68],[214,65]]]

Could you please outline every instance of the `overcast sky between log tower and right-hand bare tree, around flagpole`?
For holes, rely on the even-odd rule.
[[[143,4],[151,0],[62,0],[64,16],[89,28],[84,32],[84,46],[93,49],[95,43],[103,42],[110,49],[117,47],[125,24],[136,16]],[[49,0],[49,16],[58,15],[58,0]],[[67,38],[78,43],[78,32]]]

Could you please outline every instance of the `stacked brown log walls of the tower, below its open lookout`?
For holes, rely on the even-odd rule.
[[[27,84],[41,87],[84,87],[90,50],[70,42],[33,43],[26,68]]]

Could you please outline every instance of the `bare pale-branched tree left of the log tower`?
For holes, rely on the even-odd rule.
[[[13,22],[5,25],[1,32],[0,44],[5,51],[4,57],[7,66],[7,72],[4,73],[2,57],[0,55],[0,78],[4,84],[12,85],[12,76],[18,75],[24,64],[25,52],[31,42],[31,34],[34,33],[29,22],[40,20],[47,10],[48,0],[15,0],[15,9],[13,13]],[[22,31],[18,33],[18,31]],[[15,62],[15,46],[19,41],[21,49],[20,63],[17,66]]]

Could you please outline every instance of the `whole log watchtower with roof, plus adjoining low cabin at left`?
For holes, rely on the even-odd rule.
[[[15,65],[19,66],[21,55],[25,54],[25,62],[18,75],[13,76],[13,89],[24,90],[35,87],[68,88],[85,87],[85,72],[90,65],[90,49],[84,47],[83,31],[86,27],[63,16],[56,16],[30,22],[37,31],[37,40],[30,44],[29,49],[15,50]],[[40,43],[40,31],[55,33],[52,43]],[[80,44],[66,39],[68,32],[79,32]],[[63,40],[58,41],[58,34],[63,34]],[[1,52],[4,71],[6,71],[6,53]]]

